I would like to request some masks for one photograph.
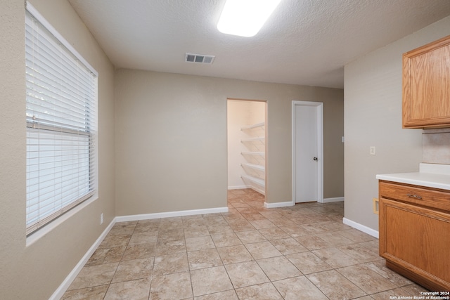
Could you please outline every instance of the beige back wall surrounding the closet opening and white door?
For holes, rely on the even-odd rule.
[[[342,197],[342,97],[340,89],[117,70],[117,216],[226,207],[227,98],[268,103],[269,203],[292,201],[292,100],[323,102],[324,195]]]

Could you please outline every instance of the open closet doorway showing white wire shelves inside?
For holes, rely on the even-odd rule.
[[[229,206],[264,207],[266,200],[266,101],[227,100]],[[245,203],[244,203],[245,202]]]

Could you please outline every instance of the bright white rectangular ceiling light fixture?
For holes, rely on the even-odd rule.
[[[281,0],[227,0],[217,29],[225,34],[253,37]]]

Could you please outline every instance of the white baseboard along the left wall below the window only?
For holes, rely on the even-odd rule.
[[[103,233],[101,233],[101,235],[94,242],[94,244],[92,244],[92,246],[89,248],[89,250],[86,252],[86,254],[84,254],[84,256],[82,257],[82,259],[79,260],[79,262],[77,263],[77,266],[75,266],[75,268],[72,269],[72,271],[69,273],[69,275],[60,284],[58,289],[56,289],[56,291],[50,296],[49,300],[59,300],[59,299],[63,298],[65,291],[70,287],[73,280],[75,280],[75,278],[77,278],[78,273],[82,270],[82,268],[84,267],[86,262],[89,261],[92,254],[94,254],[94,252],[96,251],[98,245],[100,245],[101,242],[103,241],[103,239],[106,237],[106,235],[108,235],[111,228],[113,228],[115,222],[116,222],[115,219],[113,219],[113,221],[111,221],[111,223],[109,223],[109,225],[105,228],[105,230],[103,230]]]

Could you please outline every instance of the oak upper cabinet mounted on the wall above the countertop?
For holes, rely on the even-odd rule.
[[[450,127],[450,36],[404,53],[403,127]]]

